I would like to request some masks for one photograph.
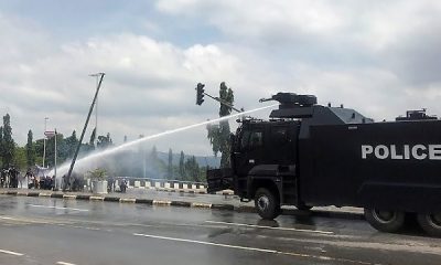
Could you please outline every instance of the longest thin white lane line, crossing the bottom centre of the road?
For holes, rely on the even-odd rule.
[[[323,255],[309,255],[309,254],[294,253],[294,252],[281,252],[281,251],[269,250],[269,248],[228,245],[228,244],[220,244],[220,243],[213,243],[213,242],[205,242],[205,241],[194,241],[194,240],[176,239],[176,237],[169,237],[169,236],[160,236],[160,235],[149,235],[149,234],[138,234],[138,233],[133,233],[133,235],[157,239],[157,240],[168,240],[168,241],[185,242],[185,243],[193,243],[193,244],[201,244],[201,245],[222,246],[222,247],[236,248],[236,250],[243,250],[243,251],[255,251],[255,252],[262,252],[262,253],[270,253],[270,254],[315,258],[315,259],[321,259],[321,261],[335,261],[338,263],[353,263],[353,264],[361,264],[361,265],[381,265],[378,263],[374,264],[374,263],[369,263],[369,262],[353,261],[353,259],[341,258],[341,257],[331,257],[331,256],[323,256]]]

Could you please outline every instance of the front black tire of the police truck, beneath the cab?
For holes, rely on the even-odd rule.
[[[273,220],[281,212],[279,198],[266,188],[259,188],[256,191],[255,206],[257,213],[265,220]]]

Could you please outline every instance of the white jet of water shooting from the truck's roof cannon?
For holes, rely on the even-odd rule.
[[[206,120],[206,121],[198,123],[198,124],[193,124],[193,125],[184,126],[184,127],[176,128],[176,129],[165,130],[165,131],[163,131],[163,132],[155,134],[155,135],[151,135],[151,136],[147,136],[147,137],[143,137],[143,138],[133,140],[133,141],[129,141],[129,142],[126,142],[126,144],[123,144],[123,145],[120,145],[120,146],[117,146],[117,147],[114,147],[114,148],[110,148],[110,149],[106,149],[106,150],[100,151],[100,152],[92,153],[92,155],[89,155],[89,156],[87,156],[87,157],[84,157],[84,158],[82,158],[82,159],[78,159],[78,160],[76,161],[76,163],[75,163],[74,171],[78,171],[78,170],[76,170],[76,169],[84,167],[87,162],[90,162],[90,161],[93,161],[93,160],[95,160],[95,159],[99,159],[99,158],[103,158],[103,157],[105,157],[105,156],[109,156],[109,155],[116,153],[116,152],[118,152],[118,151],[128,149],[128,148],[130,148],[130,147],[133,147],[133,146],[136,146],[136,145],[139,145],[139,144],[141,144],[141,142],[144,142],[144,141],[148,141],[148,140],[151,140],[151,139],[154,139],[154,138],[159,138],[159,137],[162,137],[162,136],[166,136],[166,135],[180,132],[180,131],[183,131],[183,130],[192,129],[192,128],[195,128],[195,127],[198,127],[198,126],[204,126],[204,125],[208,125],[208,124],[213,124],[213,123],[218,123],[218,121],[222,121],[222,120],[227,120],[227,119],[230,119],[230,118],[234,118],[234,117],[238,117],[238,116],[243,116],[243,115],[246,115],[246,114],[259,112],[259,110],[262,110],[262,109],[276,107],[276,106],[278,106],[278,105],[279,105],[279,104],[273,104],[273,105],[269,105],[269,106],[265,106],[265,107],[259,107],[259,108],[246,110],[246,112],[243,112],[243,113],[232,114],[232,115],[224,116],[224,117],[216,118],[216,119],[212,119],[212,120]],[[64,165],[62,165],[60,168],[57,168],[57,172],[60,173],[60,174],[57,176],[57,179],[60,179],[61,176],[67,173],[68,168],[69,168],[69,165],[71,165],[71,162],[64,163]],[[82,170],[79,170],[79,171],[82,171]],[[50,172],[50,176],[53,176],[53,174],[54,174],[54,171],[52,170],[52,171]]]

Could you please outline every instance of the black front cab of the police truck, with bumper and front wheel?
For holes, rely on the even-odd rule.
[[[255,199],[262,212],[273,200],[277,209],[263,213],[269,219],[280,205],[298,205],[299,130],[298,120],[241,120],[232,135],[232,169],[209,170],[209,191],[233,189],[241,200]]]

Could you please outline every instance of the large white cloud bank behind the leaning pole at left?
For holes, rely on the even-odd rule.
[[[28,33],[26,26],[18,23],[2,25],[10,40],[15,40],[17,32]],[[11,113],[19,142],[24,142],[28,128],[42,130],[44,117],[50,117],[50,127],[65,135],[79,131],[95,93],[95,80],[88,74],[101,71],[106,76],[99,94],[98,128],[120,139],[117,142],[123,135],[133,138],[184,125],[176,118],[189,125],[215,117],[216,110],[195,106],[194,87],[200,81],[218,82],[218,75],[235,75],[239,64],[214,44],[182,49],[132,33],[95,36],[86,42],[42,43],[42,50],[54,50],[32,54],[33,60],[28,60],[29,43],[15,40],[3,46],[15,54],[0,67],[4,76],[0,81],[0,105],[7,106],[3,113]],[[205,135],[204,128],[201,131]],[[208,150],[209,146],[196,149]]]

